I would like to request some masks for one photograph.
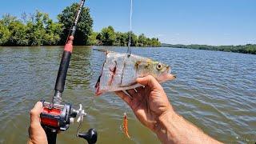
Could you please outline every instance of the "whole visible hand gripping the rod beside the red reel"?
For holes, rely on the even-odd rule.
[[[46,132],[43,130],[40,123],[40,114],[42,112],[42,102],[37,102],[32,110],[30,110],[30,138],[27,143],[38,144],[48,143]]]

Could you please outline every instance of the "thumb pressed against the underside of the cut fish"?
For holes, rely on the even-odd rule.
[[[142,84],[143,86],[150,86],[150,88],[158,88],[160,84],[158,81],[151,75],[148,75],[143,78],[137,78],[136,80],[139,84]],[[160,86],[161,87],[161,86]]]

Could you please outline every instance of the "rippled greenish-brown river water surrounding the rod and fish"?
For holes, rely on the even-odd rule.
[[[114,94],[94,97],[104,58],[93,48],[125,52],[126,47],[75,46],[63,93],[65,102],[82,103],[88,116],[82,130],[98,130],[98,143],[159,143]],[[133,48],[132,53],[172,66],[177,75],[162,84],[174,109],[219,141],[256,142],[256,55],[176,48]],[[25,143],[30,109],[50,101],[62,46],[0,47],[0,143]],[[122,134],[129,118],[131,139]],[[58,143],[82,143],[78,124],[58,134]]]

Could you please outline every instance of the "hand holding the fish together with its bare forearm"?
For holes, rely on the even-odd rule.
[[[176,114],[165,91],[152,76],[137,78],[145,86],[135,90],[116,92],[132,110],[142,124],[153,130],[162,143],[219,143],[202,130]]]

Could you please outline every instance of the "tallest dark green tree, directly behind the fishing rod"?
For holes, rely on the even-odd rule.
[[[67,6],[64,10],[62,10],[61,14],[58,14],[58,21],[63,26],[60,42],[62,45],[65,44],[66,37],[70,33],[70,27],[73,25],[78,6],[78,3],[73,3],[71,6]],[[76,34],[74,35],[74,45],[88,44],[88,37],[92,32],[92,25],[93,19],[90,17],[90,10],[88,7],[84,7],[78,21]]]

